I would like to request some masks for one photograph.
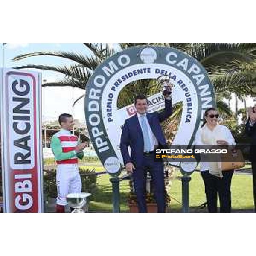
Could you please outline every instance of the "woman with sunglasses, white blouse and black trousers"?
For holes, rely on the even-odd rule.
[[[218,124],[219,114],[215,108],[204,113],[204,123],[195,137],[195,145],[235,145],[230,130]],[[218,162],[201,162],[201,176],[209,212],[218,212],[219,195],[221,212],[231,212],[231,180],[234,171],[222,172]]]

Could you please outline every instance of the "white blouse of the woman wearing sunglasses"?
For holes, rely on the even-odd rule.
[[[204,129],[204,133],[207,137],[211,138],[211,144],[206,144],[202,141],[202,131]],[[205,124],[203,128],[200,128],[195,135],[194,145],[217,145],[217,140],[226,140],[228,145],[236,145],[235,139],[229,130],[224,125],[216,125],[216,127],[212,130],[208,128]],[[200,163],[200,171],[204,172],[209,170],[209,163],[201,162]]]

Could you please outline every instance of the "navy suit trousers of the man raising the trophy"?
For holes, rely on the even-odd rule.
[[[137,167],[133,172],[134,189],[137,197],[137,206],[139,212],[147,212],[146,204],[146,176],[147,171],[150,172],[153,186],[154,196],[157,201],[157,211],[165,212],[165,186],[163,162],[154,162],[154,154],[143,155],[143,166]]]

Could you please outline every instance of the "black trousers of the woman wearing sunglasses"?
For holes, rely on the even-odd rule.
[[[233,173],[233,170],[222,172],[223,178],[220,178],[210,174],[209,171],[201,172],[209,212],[218,212],[218,195],[221,212],[231,212],[231,181]]]

